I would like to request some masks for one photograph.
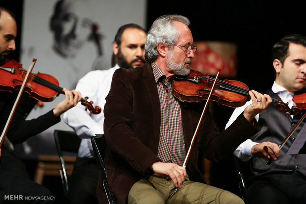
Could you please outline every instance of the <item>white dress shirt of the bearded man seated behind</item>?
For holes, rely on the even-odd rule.
[[[102,109],[100,114],[89,115],[89,111],[85,111],[85,107],[79,102],[63,115],[65,123],[72,127],[82,139],[78,150],[79,157],[93,158],[90,137],[95,134],[104,133],[103,109],[106,103],[105,97],[110,91],[113,74],[118,68],[120,67],[115,65],[115,67],[108,70],[91,71],[81,78],[76,85],[76,91],[79,91],[83,98],[89,97],[88,101],[94,102],[93,107],[99,106]]]

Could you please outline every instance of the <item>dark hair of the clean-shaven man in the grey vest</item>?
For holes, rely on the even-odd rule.
[[[276,42],[272,48],[272,60],[274,61],[275,59],[278,59],[283,64],[286,57],[289,55],[288,49],[290,43],[306,47],[306,37],[300,34],[290,34],[283,37],[281,40]]]

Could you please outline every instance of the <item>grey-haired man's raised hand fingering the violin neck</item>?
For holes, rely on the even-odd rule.
[[[253,103],[244,109],[243,115],[249,122],[251,122],[255,115],[266,109],[268,105],[271,104],[272,99],[268,94],[263,95],[254,90],[249,91],[249,94]]]

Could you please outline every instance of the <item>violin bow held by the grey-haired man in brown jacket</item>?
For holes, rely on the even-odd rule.
[[[210,101],[210,97],[211,97],[211,95],[212,95],[212,93],[213,93],[213,91],[214,91],[214,89],[215,89],[215,85],[216,85],[216,82],[217,82],[217,80],[218,80],[218,77],[219,77],[220,72],[221,72],[221,68],[219,69],[219,71],[218,71],[218,73],[217,73],[217,76],[216,76],[216,78],[215,78],[214,84],[213,84],[213,86],[212,86],[212,88],[211,88],[211,90],[210,90],[209,96],[208,96],[207,101],[206,101],[206,103],[205,103],[205,106],[204,106],[202,115],[201,115],[201,117],[200,117],[200,120],[199,120],[199,122],[198,122],[198,124],[197,124],[197,127],[196,127],[196,129],[195,129],[194,135],[193,135],[193,137],[192,137],[191,144],[190,144],[190,146],[189,146],[188,152],[187,152],[187,154],[186,154],[186,157],[185,157],[185,160],[184,160],[184,163],[183,163],[183,167],[184,167],[184,168],[186,168],[187,161],[188,161],[188,159],[189,159],[189,157],[190,157],[190,154],[191,154],[191,149],[192,149],[192,147],[193,147],[195,138],[196,138],[196,136],[197,136],[197,134],[198,134],[199,128],[200,128],[200,126],[201,126],[201,124],[202,124],[204,115],[205,115],[206,110],[207,110],[207,107],[208,107],[208,102]],[[175,189],[175,193],[177,192],[177,190],[178,190],[178,189],[176,188],[176,189]]]

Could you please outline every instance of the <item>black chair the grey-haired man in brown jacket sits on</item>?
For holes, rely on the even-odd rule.
[[[103,188],[106,194],[106,198],[108,201],[108,204],[116,204],[115,195],[110,190],[109,184],[107,182],[107,175],[105,170],[105,164],[104,164],[104,157],[105,157],[105,149],[106,149],[106,140],[103,134],[96,134],[96,136],[91,136],[91,144],[93,148],[93,152],[95,155],[95,158],[97,162],[100,164],[102,168],[103,173]]]

